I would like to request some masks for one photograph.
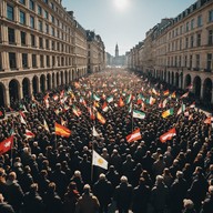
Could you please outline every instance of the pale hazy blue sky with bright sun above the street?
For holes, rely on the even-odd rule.
[[[175,18],[196,0],[62,0],[67,11],[102,38],[105,51],[125,54],[163,18]]]

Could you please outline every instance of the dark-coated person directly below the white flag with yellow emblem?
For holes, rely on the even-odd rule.
[[[97,181],[93,186],[93,193],[100,203],[100,213],[108,213],[108,206],[112,202],[112,184],[105,179],[105,175],[101,173],[99,181]]]

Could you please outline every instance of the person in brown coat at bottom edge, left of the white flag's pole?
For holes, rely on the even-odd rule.
[[[75,213],[97,213],[99,211],[100,203],[97,196],[91,193],[89,184],[83,186],[83,195],[80,196]]]

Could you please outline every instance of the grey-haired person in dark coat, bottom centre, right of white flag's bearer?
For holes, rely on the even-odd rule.
[[[121,183],[114,191],[114,200],[119,213],[128,213],[132,202],[132,185],[128,183],[126,176],[121,176]]]

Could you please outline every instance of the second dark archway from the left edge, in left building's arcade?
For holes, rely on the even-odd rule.
[[[12,79],[9,83],[10,105],[20,100],[20,84],[19,81]]]

